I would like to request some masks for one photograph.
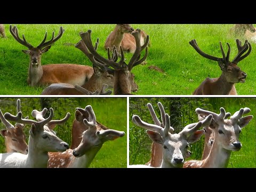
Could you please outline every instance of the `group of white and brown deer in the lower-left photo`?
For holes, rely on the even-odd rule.
[[[60,120],[53,120],[53,109],[45,118],[47,109],[33,110],[31,115],[37,121],[23,118],[20,100],[17,100],[17,115],[3,115],[0,119],[6,129],[1,130],[5,138],[6,153],[0,154],[0,167],[89,167],[104,142],[123,137],[125,132],[109,129],[96,121],[90,105],[76,108],[72,127],[72,144],[57,137],[55,125],[68,121],[70,113]],[[16,122],[15,126],[9,121]],[[28,145],[23,132],[25,125],[31,125]]]

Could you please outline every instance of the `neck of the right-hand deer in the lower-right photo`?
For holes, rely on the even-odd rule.
[[[228,166],[231,151],[223,148],[218,139],[214,138],[212,149],[209,156],[204,160],[203,167],[206,168],[225,168]]]

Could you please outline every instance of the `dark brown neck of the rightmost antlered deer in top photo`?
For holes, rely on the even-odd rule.
[[[215,85],[218,94],[227,95],[233,89],[235,83],[228,82],[225,75],[222,73],[217,81],[215,81]]]

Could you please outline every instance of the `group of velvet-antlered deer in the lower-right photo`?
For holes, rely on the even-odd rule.
[[[222,107],[220,114],[196,108],[199,122],[189,124],[181,132],[173,134],[170,116],[165,113],[161,102],[157,105],[161,112],[162,122],[157,118],[151,103],[148,103],[147,107],[155,124],[143,122],[138,115],[132,117],[135,125],[147,130],[153,145],[151,159],[146,165],[129,165],[129,167],[227,167],[231,151],[238,151],[242,148],[242,143],[239,141],[241,129],[253,118],[252,115],[243,117],[251,111],[247,107],[241,108],[232,116]],[[200,127],[203,129],[199,129]],[[185,162],[185,158],[191,154],[188,151],[189,143],[196,142],[203,134],[205,142],[202,159]]]

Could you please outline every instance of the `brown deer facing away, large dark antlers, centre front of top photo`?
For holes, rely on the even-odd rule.
[[[85,43],[87,49],[91,52],[93,55],[92,59],[94,59],[94,62],[100,62],[102,65],[110,66],[115,69],[114,77],[114,94],[131,94],[131,91],[137,91],[138,85],[134,82],[134,75],[131,73],[131,70],[133,67],[139,65],[145,59],[148,55],[148,42],[149,42],[149,36],[147,36],[145,44],[142,46],[140,45],[140,39],[141,39],[141,31],[140,29],[137,29],[136,31],[132,32],[132,35],[135,38],[136,41],[136,50],[132,55],[132,58],[130,59],[128,65],[125,63],[124,59],[124,51],[122,49],[122,46],[120,46],[121,50],[121,59],[119,62],[116,62],[118,57],[116,47],[114,46],[114,54],[113,57],[110,57],[110,51],[108,49],[108,59],[105,59],[102,57],[93,47],[92,39],[91,39],[91,30],[88,30],[85,33],[80,33],[80,36]],[[140,59],[141,51],[146,50],[146,53],[142,59]],[[117,59],[116,59],[117,58]]]

